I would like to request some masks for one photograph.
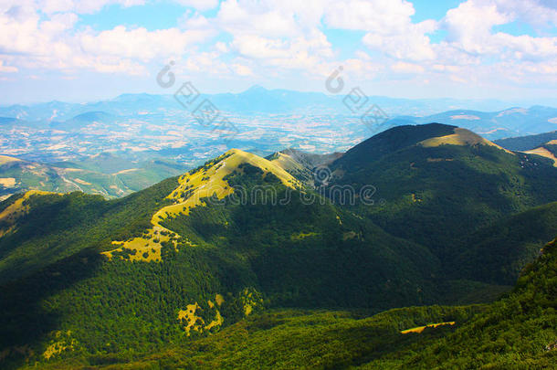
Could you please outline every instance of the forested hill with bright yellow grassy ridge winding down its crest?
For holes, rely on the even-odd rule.
[[[275,164],[232,151],[122,199],[8,199],[0,217],[2,348],[21,361],[45,361],[54,344],[65,348],[57,347],[61,357],[137,355],[263,306],[378,312],[436,301],[439,264],[426,248],[325,199],[307,204],[296,184]],[[217,185],[229,187],[217,194]],[[290,201],[269,203],[257,192],[247,204],[234,201],[263,185]],[[18,356],[21,346],[33,355]]]

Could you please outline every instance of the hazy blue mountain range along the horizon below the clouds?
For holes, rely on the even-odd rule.
[[[343,95],[294,90],[267,90],[253,86],[240,93],[201,94],[219,111],[243,116],[261,114],[318,114],[352,116],[350,91]],[[498,100],[396,99],[366,96],[391,117],[389,125],[443,122],[454,124],[485,136],[499,139],[510,136],[549,132],[557,124],[557,109],[540,105],[530,108],[510,107]],[[348,105],[347,105],[348,104]],[[467,107],[467,109],[464,109]],[[0,107],[2,120],[75,131],[82,122],[114,122],[119,117],[141,117],[145,112],[176,111],[173,95],[122,94],[111,100],[89,103],[51,101],[30,105]],[[344,113],[342,113],[344,112]],[[411,115],[408,115],[410,112]],[[358,114],[356,114],[358,115]],[[0,121],[2,122],[2,121]],[[6,123],[4,123],[6,124]]]

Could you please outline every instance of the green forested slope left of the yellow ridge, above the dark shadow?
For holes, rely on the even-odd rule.
[[[64,196],[31,196],[31,212],[17,220],[16,232],[0,238],[0,283],[21,278],[88,248],[113,248],[149,227],[152,210],[168,203],[177,185],[169,178],[142,192],[107,201],[74,192]],[[2,203],[8,205],[18,196]],[[0,221],[1,222],[1,221]],[[5,225],[0,223],[0,227]]]

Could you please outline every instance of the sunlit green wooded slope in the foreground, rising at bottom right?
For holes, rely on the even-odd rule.
[[[499,301],[365,312],[262,312],[220,333],[142,358],[74,357],[46,368],[541,369],[557,364],[557,242]],[[422,333],[402,330],[455,322]],[[110,362],[110,364],[107,364]],[[93,365],[93,366],[91,366]]]

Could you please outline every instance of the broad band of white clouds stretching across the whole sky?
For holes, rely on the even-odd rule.
[[[402,79],[415,81],[547,85],[557,79],[557,37],[494,31],[515,21],[541,30],[557,24],[557,8],[547,0],[468,0],[443,19],[418,23],[409,0],[223,0],[220,5],[218,0],[174,0],[194,8],[176,16],[178,26],[77,28],[82,14],[145,2],[4,0],[0,73],[59,69],[75,76],[89,69],[146,74],[150,63],[172,58],[184,73],[231,79],[286,80],[289,74],[317,80],[341,65],[346,76],[360,80],[401,80],[405,75]],[[216,15],[199,13],[207,9],[217,9]],[[361,45],[345,56],[328,39],[331,29],[356,31],[346,34],[362,35]],[[432,43],[439,29],[447,37]]]

